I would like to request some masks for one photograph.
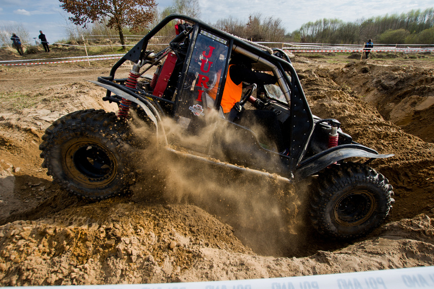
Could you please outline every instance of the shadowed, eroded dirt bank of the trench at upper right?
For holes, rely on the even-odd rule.
[[[428,56],[422,54],[420,57]],[[347,85],[358,97],[375,106],[385,120],[427,142],[434,142],[432,65],[356,61],[329,75],[336,83]]]

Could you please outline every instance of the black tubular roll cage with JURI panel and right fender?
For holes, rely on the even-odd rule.
[[[152,45],[151,39],[176,19],[188,22],[191,24],[191,28],[176,35],[168,47],[154,53],[148,48]],[[164,58],[169,59],[172,54],[175,62],[171,67],[171,72],[167,76],[163,76],[168,83],[168,88],[164,93],[161,92],[156,95],[152,91],[127,87],[124,85],[127,82],[126,79],[115,78],[117,69],[127,60],[134,63],[132,70],[136,69],[136,73],[139,73],[144,64],[152,66],[160,63]],[[228,74],[229,60],[233,54],[248,57],[253,62],[253,69],[255,70],[273,73],[286,99],[286,103],[273,99],[270,101],[277,110],[285,111],[289,115],[282,126],[289,153],[281,155],[260,146],[257,148],[262,151],[265,158],[270,158],[273,155],[280,159],[279,164],[274,163],[272,165],[273,168],[270,169],[272,172],[282,173],[289,169],[292,174],[299,169],[299,176],[305,177],[347,157],[381,158],[390,156],[378,155],[376,151],[352,142],[351,137],[343,134],[342,131],[339,131],[342,136],[339,144],[350,144],[346,147],[345,154],[336,153],[339,147],[329,151],[327,148],[313,150],[315,133],[324,131],[324,129],[328,131],[332,126],[339,129],[340,123],[332,119],[321,120],[312,115],[302,85],[287,55],[280,49],[258,47],[247,40],[184,15],[172,14],[162,20],[113,66],[109,77],[99,77],[98,82],[104,83],[104,87],[108,89],[105,100],[120,104],[120,99],[125,98],[122,95],[125,96],[127,93],[128,99],[131,99],[132,102],[144,104],[141,106],[156,126],[158,126],[157,122],[161,117],[168,116],[175,119],[184,128],[200,127],[203,125],[201,117],[208,113],[208,109],[220,111],[220,115],[224,119],[220,110],[220,103]],[[211,91],[208,89],[211,87],[216,87],[214,98],[209,97]],[[122,92],[119,93],[119,90]],[[249,130],[246,127],[240,129]],[[328,154],[329,156],[327,156]],[[316,163],[313,165],[312,162]],[[285,168],[282,168],[282,163]],[[288,174],[286,173],[286,175]]]

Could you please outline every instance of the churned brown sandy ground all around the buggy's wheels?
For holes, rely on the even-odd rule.
[[[272,202],[270,192],[282,191],[281,185],[222,171],[196,188],[204,182],[181,166],[148,172],[128,197],[89,203],[68,196],[41,168],[41,136],[66,113],[116,110],[101,100],[103,89],[85,81],[108,75],[113,63],[0,67],[0,285],[225,280],[434,265],[434,144],[427,142],[434,139],[434,57],[360,62],[298,56],[293,62],[314,114],[340,120],[344,132],[379,153],[395,154],[372,163],[395,192],[383,227],[351,244],[327,242],[296,220],[303,197],[292,196],[289,212],[255,206]],[[121,69],[126,75],[129,67]]]

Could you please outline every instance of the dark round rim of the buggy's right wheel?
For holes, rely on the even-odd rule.
[[[375,204],[375,199],[369,192],[353,191],[336,202],[333,215],[340,225],[357,226],[371,218]]]

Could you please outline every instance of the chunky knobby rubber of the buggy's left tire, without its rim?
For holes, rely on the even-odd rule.
[[[130,159],[126,151],[125,139],[128,137],[126,124],[118,120],[114,113],[106,113],[104,110],[82,110],[70,113],[56,120],[46,129],[43,142],[40,144],[41,158],[44,159],[42,166],[47,168],[47,174],[53,176],[53,181],[73,195],[92,200],[103,200],[115,195],[122,195],[128,191],[131,185],[125,175],[116,175],[116,182],[108,184],[103,191],[88,188],[78,188],[74,180],[69,179],[64,171],[59,172],[56,167],[61,167],[63,156],[61,155],[62,141],[66,142],[72,138],[91,137],[101,141],[102,146],[109,146],[114,149],[116,165],[124,168],[120,173],[128,173]],[[110,150],[109,150],[110,151]],[[132,172],[131,172],[132,173]],[[132,179],[134,177],[131,177]]]

